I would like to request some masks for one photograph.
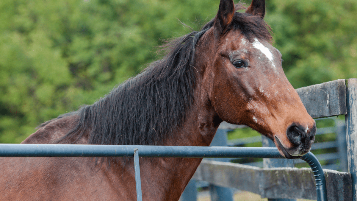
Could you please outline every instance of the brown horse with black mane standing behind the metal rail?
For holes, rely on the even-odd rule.
[[[281,67],[264,0],[221,0],[202,31],[109,95],[40,126],[22,143],[208,146],[222,121],[307,153],[315,121]],[[140,158],[143,200],[178,200],[201,158]],[[136,200],[132,159],[1,158],[0,200]]]

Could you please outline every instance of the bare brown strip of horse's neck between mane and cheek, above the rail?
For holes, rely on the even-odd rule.
[[[210,34],[213,35],[213,32]],[[208,46],[215,45],[212,41],[208,44]],[[209,70],[206,69],[206,66],[214,63],[214,58],[207,57],[207,55],[214,55],[212,50],[214,48],[205,48],[204,46],[198,45],[195,53],[195,58],[202,59],[196,60],[193,64],[197,72],[195,88],[193,89],[193,104],[185,111],[185,120],[182,127],[177,129],[177,134],[174,135],[174,143],[170,140],[166,141],[169,145],[209,146],[222,122],[210,102],[209,89],[207,89],[212,85],[210,83],[212,79],[209,77],[211,73],[206,72]]]

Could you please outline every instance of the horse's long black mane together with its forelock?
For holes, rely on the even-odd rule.
[[[75,112],[79,117],[76,126],[58,142],[79,139],[88,131],[89,144],[157,145],[172,137],[193,103],[195,45],[212,25],[213,20],[202,31],[166,44],[168,54],[162,60]],[[232,26],[242,30],[248,40],[271,39],[267,25],[257,16],[236,13]]]

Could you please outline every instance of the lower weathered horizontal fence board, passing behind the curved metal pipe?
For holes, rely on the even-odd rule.
[[[351,174],[324,169],[329,201],[351,201]],[[316,200],[310,168],[258,168],[237,163],[202,160],[195,180],[237,188],[269,198]]]

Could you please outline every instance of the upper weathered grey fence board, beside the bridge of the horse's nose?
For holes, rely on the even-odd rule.
[[[346,81],[338,79],[296,89],[312,118],[346,114]]]

